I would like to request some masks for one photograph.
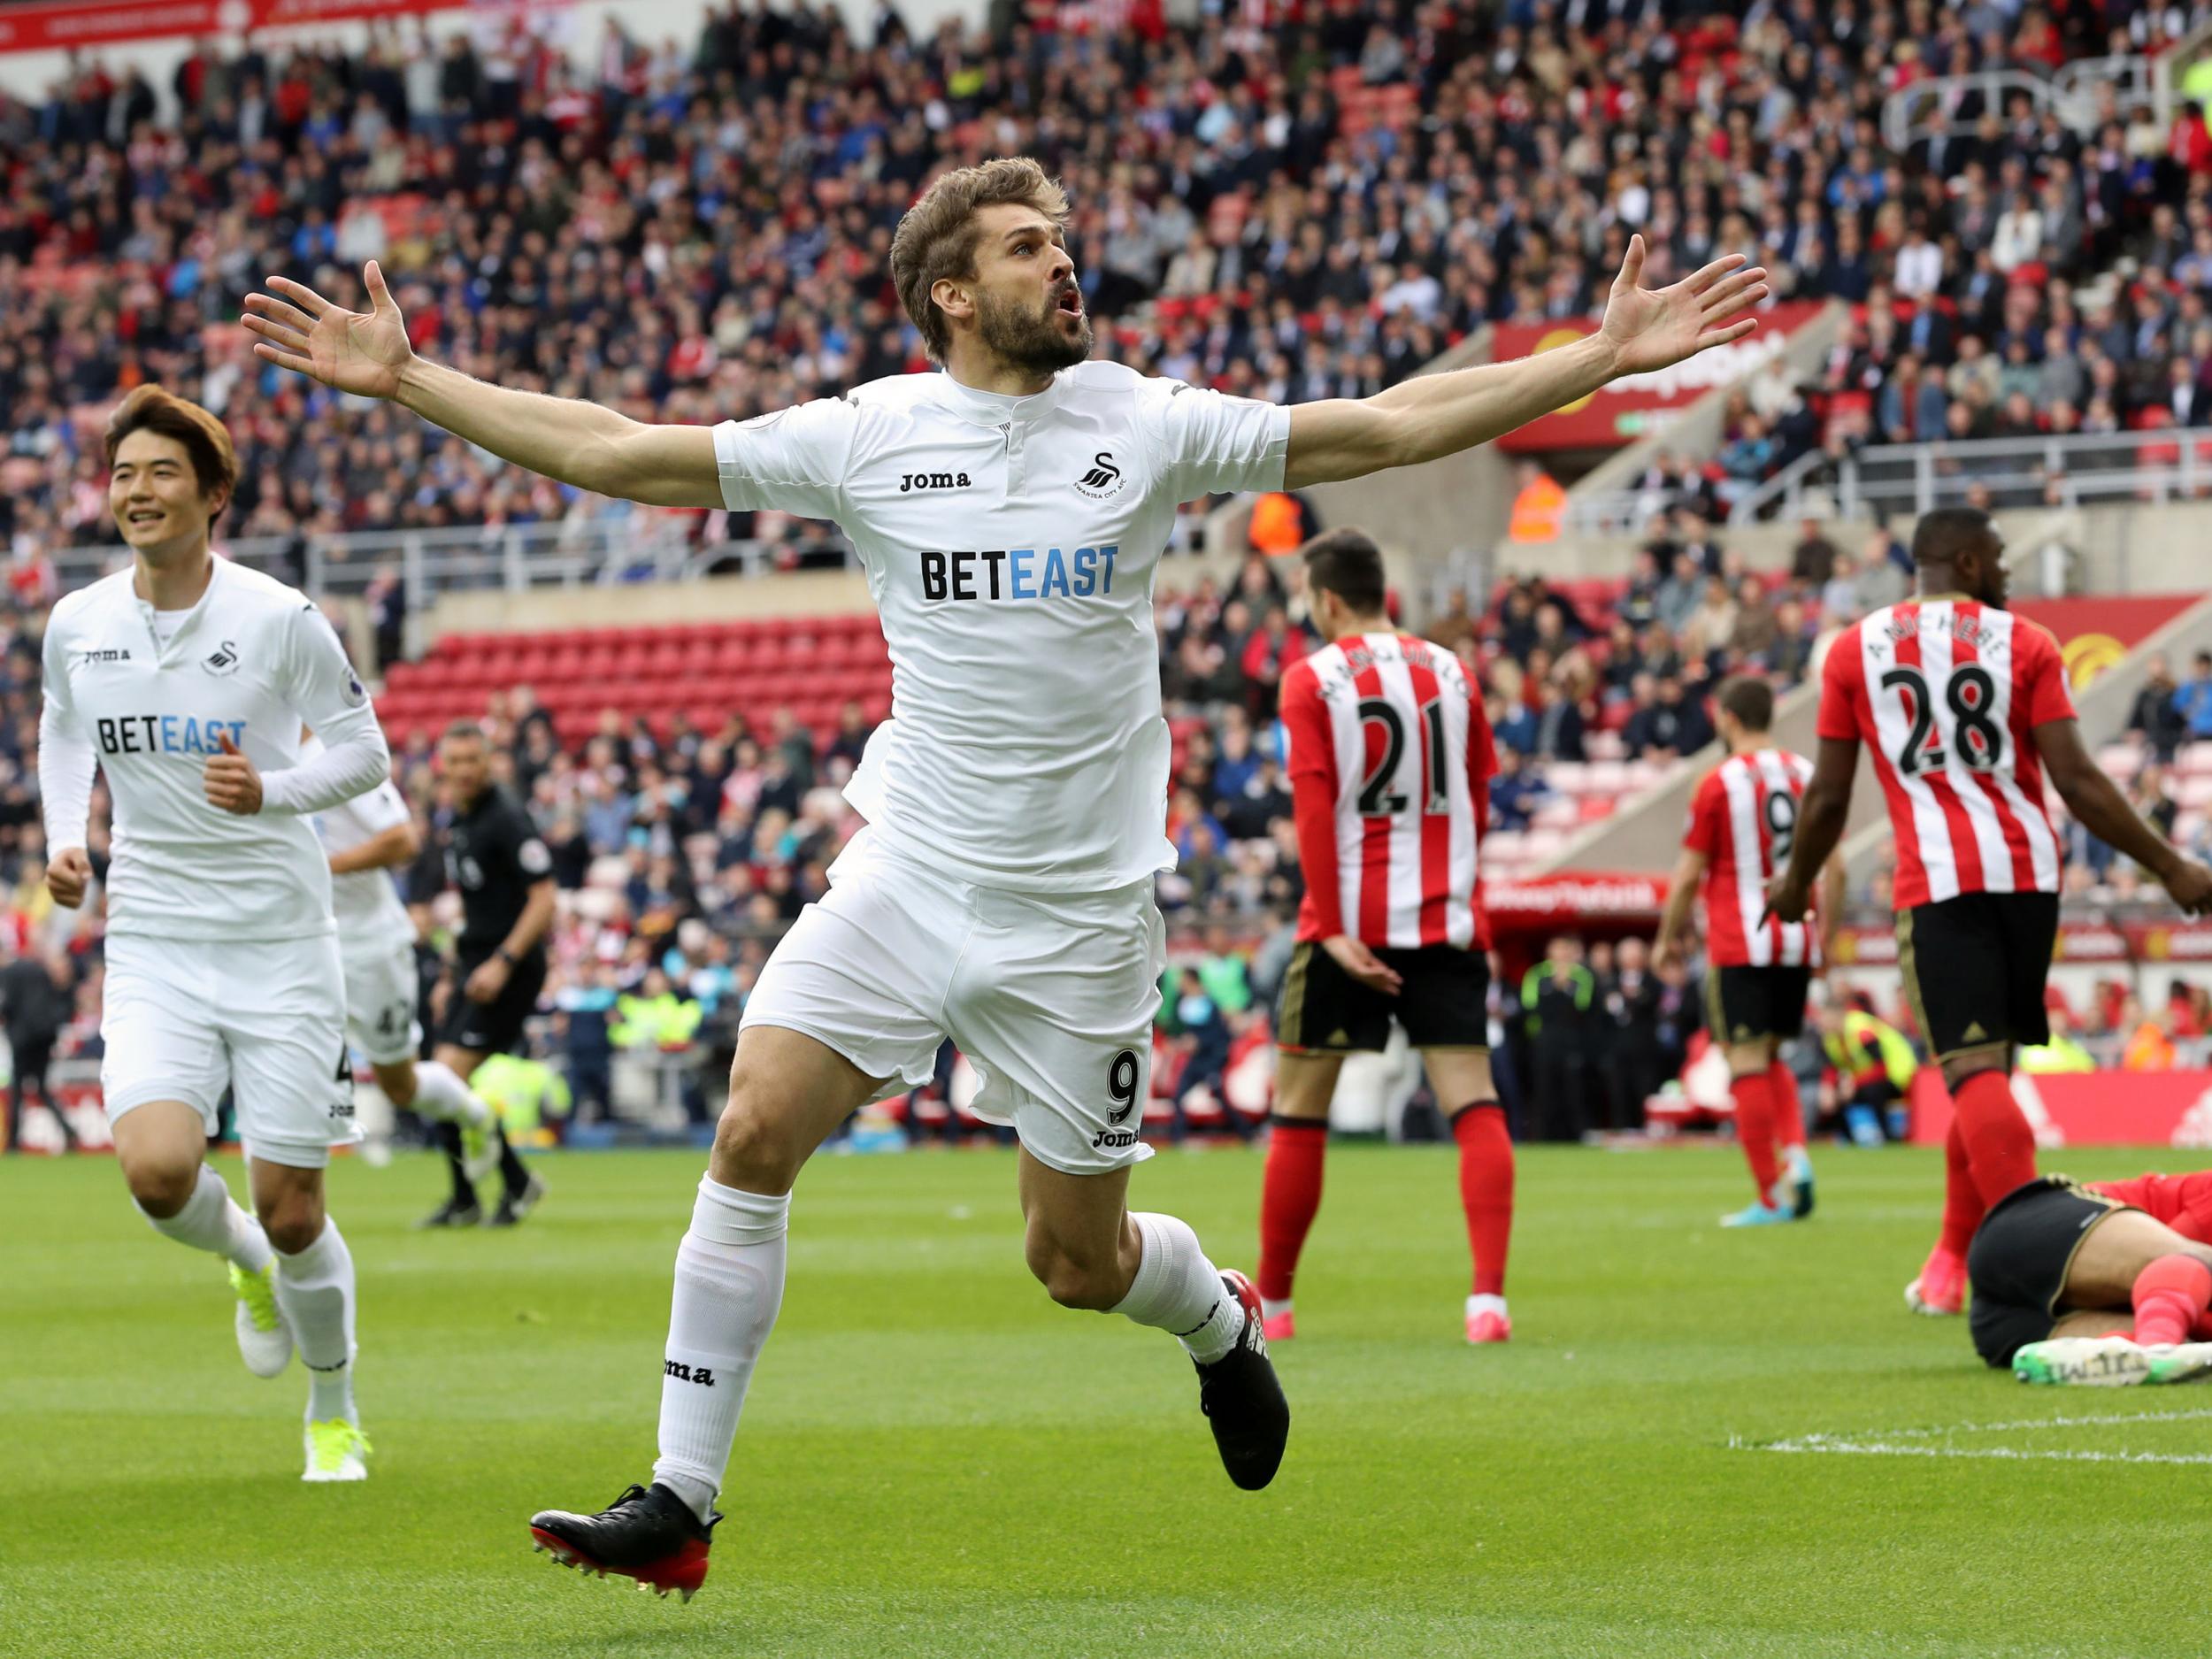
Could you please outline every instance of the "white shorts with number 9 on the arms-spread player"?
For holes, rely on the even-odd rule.
[[[1166,967],[1152,883],[1015,894],[869,836],[768,958],[743,1024],[836,1048],[885,1077],[883,1095],[929,1082],[951,1037],[982,1075],[975,1115],[1013,1124],[1040,1164],[1102,1175],[1150,1157],[1137,1130]]]

